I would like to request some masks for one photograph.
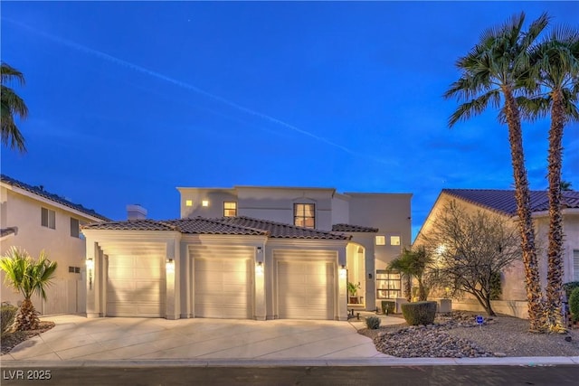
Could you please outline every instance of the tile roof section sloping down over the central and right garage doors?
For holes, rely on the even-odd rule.
[[[252,217],[223,217],[215,219],[224,223],[240,225],[245,228],[252,228],[270,232],[270,237],[274,239],[318,239],[318,240],[349,240],[350,237],[332,233],[329,231],[318,231],[310,228],[297,227],[295,225],[284,224],[276,221],[253,219]]]

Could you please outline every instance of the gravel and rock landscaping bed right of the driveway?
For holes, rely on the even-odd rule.
[[[400,358],[479,358],[488,356],[579,356],[579,330],[567,334],[531,334],[528,321],[507,315],[477,325],[475,313],[454,311],[434,325],[386,325],[358,331],[374,340],[376,350]]]

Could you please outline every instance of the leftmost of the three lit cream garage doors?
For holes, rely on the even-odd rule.
[[[107,315],[165,317],[165,259],[109,256]]]

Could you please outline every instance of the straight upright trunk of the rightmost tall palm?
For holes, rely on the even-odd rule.
[[[555,89],[549,129],[549,247],[546,274],[546,309],[549,330],[565,332],[563,322],[563,216],[561,214],[561,159],[565,111],[563,95]]]

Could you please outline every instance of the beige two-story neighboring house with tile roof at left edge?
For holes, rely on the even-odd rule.
[[[36,310],[43,315],[84,313],[85,241],[81,225],[109,221],[82,205],[48,193],[43,186],[32,186],[4,174],[0,178],[0,254],[12,246],[24,248],[38,259],[45,250],[48,259],[58,262],[55,279],[47,291],[48,300],[33,297]],[[1,301],[17,305],[20,293],[4,284]]]

